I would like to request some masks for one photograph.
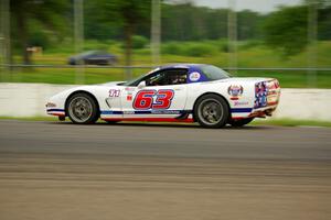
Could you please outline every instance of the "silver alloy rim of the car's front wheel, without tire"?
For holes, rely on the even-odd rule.
[[[70,102],[68,113],[76,122],[83,123],[90,118],[93,106],[87,98],[76,97]]]

